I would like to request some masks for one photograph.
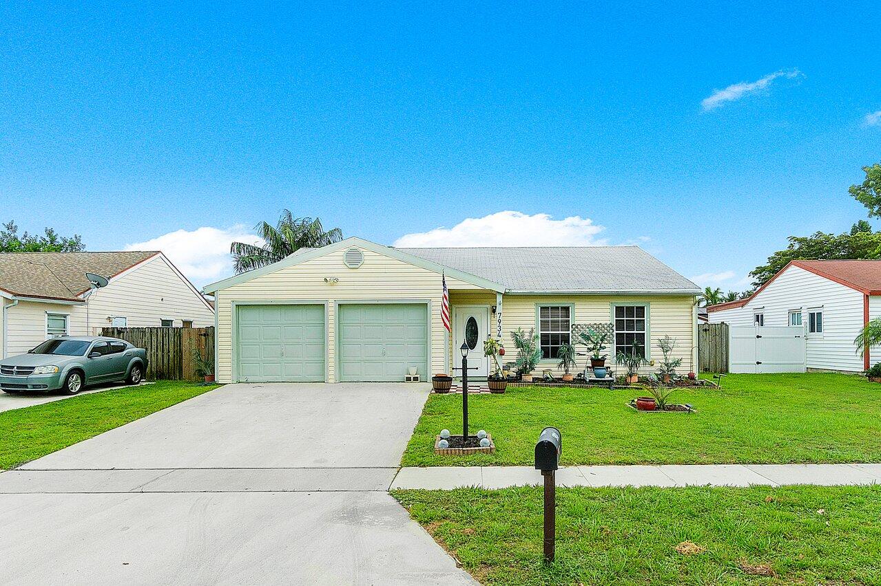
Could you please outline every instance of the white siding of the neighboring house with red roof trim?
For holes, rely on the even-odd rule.
[[[711,311],[708,317],[712,324],[751,326],[752,316],[758,312],[765,314],[765,326],[788,326],[789,311],[801,310],[807,368],[861,372],[863,362],[856,354],[854,338],[862,328],[863,299],[856,289],[791,266],[748,304]],[[823,311],[822,335],[807,333],[808,311],[814,308]]]

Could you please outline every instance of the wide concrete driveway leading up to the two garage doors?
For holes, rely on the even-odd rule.
[[[0,473],[0,583],[474,584],[387,490],[426,385],[226,385]]]

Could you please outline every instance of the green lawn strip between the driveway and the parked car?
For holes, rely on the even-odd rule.
[[[159,381],[5,411],[0,413],[0,469],[41,458],[217,387]]]

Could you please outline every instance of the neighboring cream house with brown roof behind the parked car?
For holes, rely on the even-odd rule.
[[[109,280],[93,289],[86,273]],[[0,254],[0,355],[102,327],[214,325],[211,304],[159,252]]]

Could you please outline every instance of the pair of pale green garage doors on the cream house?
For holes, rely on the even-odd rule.
[[[339,381],[400,382],[410,368],[428,370],[427,303],[236,304],[235,316],[238,381],[323,382],[331,340]]]

